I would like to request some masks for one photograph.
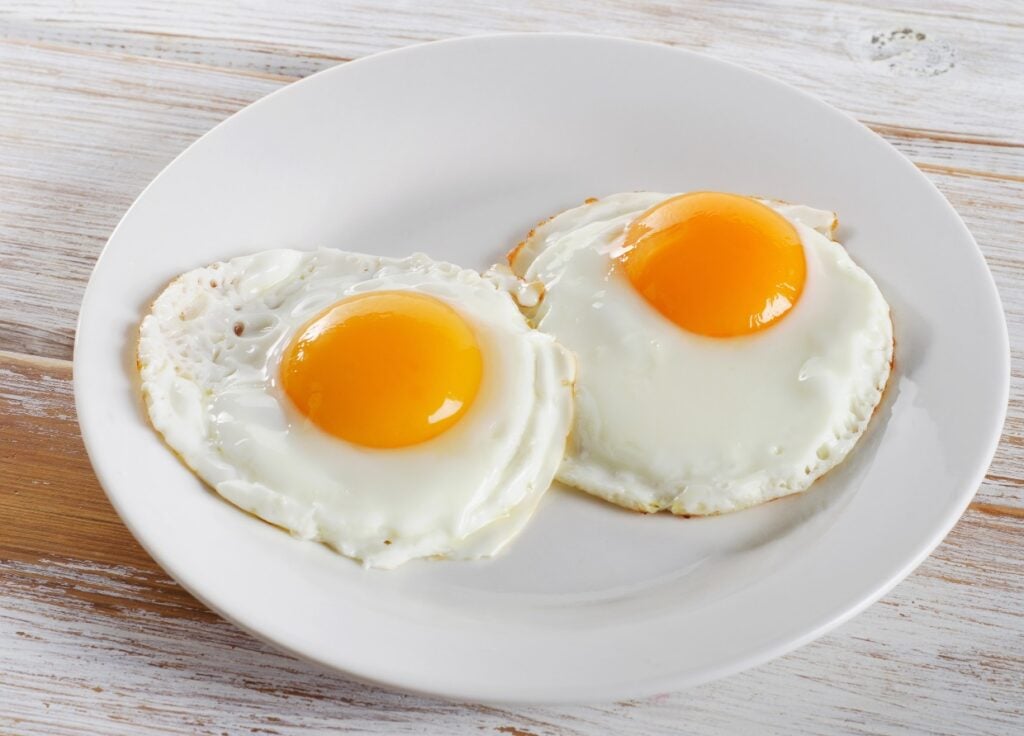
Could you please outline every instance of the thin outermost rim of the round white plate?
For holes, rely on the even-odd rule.
[[[395,55],[403,54],[416,54],[424,50],[428,50],[433,47],[438,46],[449,46],[449,45],[461,45],[461,44],[473,44],[473,43],[486,43],[489,41],[516,41],[521,39],[531,39],[537,37],[545,37],[554,41],[559,39],[574,39],[574,40],[587,40],[596,43],[615,43],[624,44],[630,46],[641,46],[646,47],[650,50],[657,49],[659,51],[668,51],[672,53],[682,54],[684,56],[689,56],[694,59],[698,59],[703,62],[711,62],[717,66],[723,66],[726,68],[731,68],[733,71],[740,71],[742,74],[750,75],[758,78],[758,81],[762,84],[767,84],[774,86],[778,89],[785,90],[788,94],[797,94],[806,100],[812,102],[815,106],[827,111],[831,115],[840,115],[846,118],[848,121],[852,122],[856,126],[862,129],[862,131],[869,133],[871,136],[882,142],[886,147],[890,149],[892,154],[895,154],[899,160],[901,160],[902,165],[909,170],[912,170],[914,176],[916,177],[919,183],[924,183],[934,196],[937,196],[945,205],[945,207],[954,216],[955,221],[961,229],[961,235],[966,236],[968,241],[974,246],[975,255],[984,264],[984,271],[988,277],[988,284],[991,288],[991,295],[995,299],[995,305],[998,307],[996,310],[998,315],[999,324],[998,334],[999,344],[998,350],[1004,356],[1000,361],[999,372],[999,395],[1000,395],[1000,405],[1001,409],[996,415],[993,415],[989,422],[989,436],[987,440],[983,443],[985,450],[982,453],[984,457],[984,462],[979,461],[979,465],[975,473],[973,474],[970,483],[964,485],[964,489],[957,496],[956,503],[949,503],[946,513],[942,517],[941,524],[937,524],[932,530],[928,539],[919,547],[918,552],[910,559],[905,560],[901,565],[899,571],[889,577],[888,579],[881,580],[874,590],[864,597],[862,597],[856,605],[847,607],[845,610],[839,611],[835,615],[831,615],[827,620],[821,621],[817,626],[805,632],[801,636],[783,638],[783,641],[772,642],[765,646],[759,648],[756,652],[748,654],[745,657],[737,657],[733,661],[725,662],[717,667],[711,667],[700,673],[699,675],[682,675],[676,677],[663,677],[657,676],[655,678],[655,683],[648,682],[636,682],[634,687],[631,688],[618,688],[614,691],[598,691],[593,693],[586,693],[580,696],[572,695],[571,697],[566,697],[563,694],[553,694],[551,696],[546,696],[545,694],[540,694],[537,697],[521,697],[514,694],[510,694],[508,697],[494,697],[488,694],[484,694],[483,690],[480,690],[477,694],[471,692],[467,693],[465,690],[460,689],[458,691],[446,689],[444,687],[425,687],[420,680],[409,680],[403,679],[400,675],[396,677],[381,678],[376,675],[370,674],[366,667],[349,666],[349,665],[339,665],[337,662],[329,660],[328,658],[322,658],[316,656],[315,653],[303,651],[294,648],[284,642],[279,641],[276,638],[269,634],[263,633],[253,626],[248,625],[246,622],[237,618],[236,616],[229,614],[224,609],[222,609],[214,601],[210,600],[207,596],[198,590],[198,587],[191,583],[190,575],[185,571],[181,570],[176,564],[171,556],[165,555],[161,550],[157,549],[146,539],[145,534],[142,532],[141,528],[137,525],[136,520],[134,520],[130,513],[127,512],[126,507],[123,505],[118,492],[113,491],[112,488],[116,487],[118,483],[109,476],[105,469],[102,467],[102,463],[99,460],[99,452],[96,447],[96,440],[92,432],[86,428],[86,423],[90,423],[91,420],[86,418],[87,413],[83,413],[83,397],[86,393],[86,387],[84,385],[84,380],[80,378],[82,375],[81,365],[84,360],[82,357],[82,350],[80,349],[80,337],[82,335],[82,328],[87,318],[89,312],[89,305],[95,301],[98,297],[96,296],[95,289],[93,288],[95,282],[96,272],[102,267],[104,256],[106,256],[110,250],[110,244],[117,237],[119,231],[122,229],[122,225],[130,218],[132,213],[135,211],[139,202],[141,202],[146,193],[153,188],[158,181],[160,181],[165,174],[173,168],[180,159],[185,157],[189,151],[196,146],[200,145],[209,136],[213,135],[222,126],[228,124],[229,122],[236,120],[237,118],[245,115],[250,115],[251,111],[258,110],[266,100],[275,97],[279,94],[284,93],[286,90],[291,90],[297,85],[303,85],[312,79],[319,78],[322,75],[340,75],[345,74],[346,71],[353,68],[361,69],[362,64],[372,63],[373,61],[379,59],[380,57],[391,57]],[[315,664],[318,667],[324,667],[331,673],[341,673],[345,677],[351,678],[353,680],[372,684],[384,688],[398,688],[400,690],[416,693],[419,695],[425,695],[428,697],[440,697],[450,700],[474,700],[479,702],[492,702],[492,703],[505,703],[505,704],[524,704],[524,703],[547,703],[547,704],[558,704],[558,703],[586,703],[586,702],[607,702],[613,699],[630,698],[630,697],[642,697],[649,695],[655,689],[672,689],[672,690],[682,690],[690,687],[694,687],[700,684],[712,682],[724,677],[728,677],[735,673],[758,666],[776,657],[782,656],[790,653],[815,639],[823,636],[824,634],[835,630],[837,626],[841,625],[845,621],[854,617],[858,613],[862,612],[864,609],[869,607],[871,604],[876,603],[884,595],[895,588],[899,582],[907,577],[918,566],[920,566],[931,553],[942,543],[946,537],[952,527],[956,524],[959,518],[963,516],[967,508],[969,507],[971,501],[974,499],[978,487],[983,482],[984,477],[987,473],[988,467],[994,457],[994,453],[999,445],[1001,439],[1002,428],[1006,423],[1006,417],[1008,412],[1008,403],[1010,398],[1010,380],[1011,380],[1011,350],[1010,350],[1010,338],[1007,329],[1007,318],[1006,311],[1002,307],[1001,298],[999,296],[998,288],[995,283],[994,276],[991,272],[991,268],[988,266],[988,262],[985,259],[984,253],[978,246],[977,241],[971,233],[970,229],[967,227],[959,213],[952,207],[952,205],[946,200],[945,196],[938,189],[938,187],[929,179],[918,167],[913,165],[902,153],[896,149],[889,141],[887,141],[880,134],[876,133],[873,130],[868,128],[866,125],[858,121],[852,115],[825,102],[823,99],[817,97],[811,92],[802,90],[787,82],[770,77],[761,72],[749,69],[741,64],[728,61],[725,59],[718,58],[716,56],[701,53],[698,51],[692,51],[688,48],[680,48],[678,46],[654,41],[641,41],[636,39],[631,39],[622,36],[614,35],[601,35],[601,34],[590,34],[590,33],[577,33],[577,32],[510,32],[510,33],[487,33],[487,34],[475,34],[470,36],[459,36],[446,39],[441,39],[437,41],[429,41],[423,43],[414,43],[406,46],[399,46],[392,49],[387,49],[384,51],[372,53],[366,56],[360,56],[356,59],[350,61],[341,62],[339,64],[329,67],[327,69],[321,70],[314,74],[304,77],[295,82],[286,84],[279,89],[269,92],[268,94],[260,97],[257,100],[249,103],[245,107],[234,112],[229,115],[224,120],[217,123],[211,129],[206,131],[203,135],[198,137],[191,143],[189,143],[183,150],[176,155],[161,171],[146,184],[146,186],[138,193],[135,200],[132,202],[131,206],[125,211],[117,226],[112,230],[110,236],[104,243],[102,250],[100,251],[96,261],[90,271],[90,276],[86,289],[83,293],[82,301],[79,308],[79,313],[76,319],[76,332],[75,332],[75,347],[73,355],[73,382],[74,382],[74,395],[75,395],[75,405],[77,410],[77,418],[80,427],[80,432],[83,438],[83,442],[86,448],[86,453],[89,458],[90,464],[93,471],[96,474],[96,478],[103,489],[108,500],[114,507],[122,523],[128,528],[132,536],[138,542],[138,544],[145,550],[154,561],[170,575],[178,585],[180,585],[185,591],[187,591],[191,596],[196,597],[203,605],[207,606],[219,616],[229,621],[232,625],[247,632],[259,641],[265,642],[270,646],[274,647],[280,651],[285,651],[303,661]]]

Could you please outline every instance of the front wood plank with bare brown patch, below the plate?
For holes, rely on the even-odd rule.
[[[793,734],[1024,727],[1024,640],[1011,634],[1024,625],[1024,518],[999,508],[970,511],[883,602],[755,672],[629,703],[492,708],[325,674],[177,587],[96,484],[63,361],[0,356],[0,731],[393,734],[429,715],[445,733],[655,734],[682,712],[693,734],[790,712]]]

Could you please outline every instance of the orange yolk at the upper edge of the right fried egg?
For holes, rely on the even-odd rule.
[[[806,263],[797,229],[748,197],[697,191],[634,220],[623,265],[633,287],[684,330],[748,335],[797,303]]]

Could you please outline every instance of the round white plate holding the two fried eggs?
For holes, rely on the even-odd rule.
[[[241,513],[143,418],[136,324],[175,274],[264,248],[498,259],[590,196],[691,188],[839,211],[888,297],[896,371],[852,457],[809,492],[645,517],[561,488],[479,563],[367,571]],[[406,48],[291,85],[188,148],[111,237],[75,395],[125,524],[248,631],[379,683],[602,700],[763,662],[878,599],[942,539],[994,451],[1009,384],[991,276],[953,210],[880,137],[791,87],[664,46],[512,35]]]

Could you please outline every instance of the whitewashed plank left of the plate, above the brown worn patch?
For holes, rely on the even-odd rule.
[[[280,85],[0,44],[0,349],[70,357],[92,264],[132,200]]]

